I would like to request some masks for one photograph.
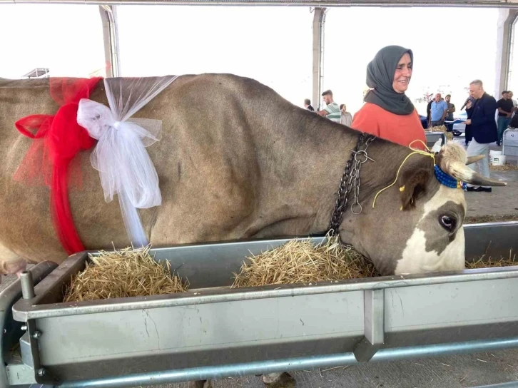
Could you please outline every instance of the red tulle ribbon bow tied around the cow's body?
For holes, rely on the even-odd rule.
[[[61,106],[56,115],[31,115],[15,123],[16,129],[34,139],[34,143],[14,179],[51,188],[54,228],[68,255],[84,250],[68,201],[68,180],[74,176],[71,162],[81,150],[88,150],[95,144],[86,129],[77,123],[78,103],[81,98],[90,98],[92,89],[101,79],[51,78],[51,97]],[[81,170],[75,175],[81,185]]]

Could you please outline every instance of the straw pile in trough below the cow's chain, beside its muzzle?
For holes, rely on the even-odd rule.
[[[290,240],[280,247],[247,257],[235,274],[233,288],[325,282],[377,276],[372,262],[337,237],[315,245],[310,240]]]

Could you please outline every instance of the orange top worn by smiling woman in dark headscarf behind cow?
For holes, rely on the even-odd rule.
[[[412,148],[423,150],[422,143],[416,140],[426,144],[425,130],[422,128],[417,111],[401,116],[385,111],[373,103],[365,103],[355,114],[351,127],[405,147],[410,146],[414,141]]]

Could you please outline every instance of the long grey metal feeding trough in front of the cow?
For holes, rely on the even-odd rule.
[[[518,223],[464,230],[467,257],[518,248]],[[176,295],[63,303],[87,253],[37,265],[0,295],[0,386],[136,387],[518,347],[518,266],[228,287],[250,252],[286,241],[152,250],[188,277]]]

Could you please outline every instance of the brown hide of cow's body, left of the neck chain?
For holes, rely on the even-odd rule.
[[[102,83],[91,99],[106,104]],[[32,142],[14,123],[58,108],[48,79],[0,81],[0,244],[31,262],[61,262],[66,253],[49,188],[12,178]],[[140,210],[155,246],[324,232],[356,141],[349,129],[230,75],[181,76],[134,117],[163,121],[162,140],[147,148],[163,203]],[[118,200],[105,203],[90,153],[81,153],[83,189],[69,190],[76,228],[87,249],[125,247]]]

